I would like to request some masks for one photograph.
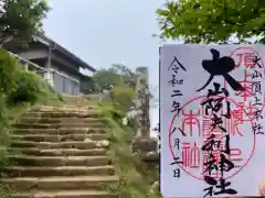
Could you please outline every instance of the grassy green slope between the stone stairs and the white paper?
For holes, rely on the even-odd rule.
[[[129,128],[121,125],[123,113],[113,106],[99,105],[103,117],[110,128],[110,148],[108,156],[115,165],[119,182],[100,185],[99,188],[116,194],[119,198],[160,198],[158,190],[151,191],[151,185],[159,179],[158,169],[148,169],[138,154],[132,153]]]

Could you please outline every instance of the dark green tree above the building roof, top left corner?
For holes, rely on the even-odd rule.
[[[0,0],[0,46],[11,40],[25,44],[43,33],[47,11],[45,0]]]

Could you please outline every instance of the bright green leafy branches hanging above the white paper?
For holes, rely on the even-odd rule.
[[[264,0],[179,0],[157,10],[160,37],[186,43],[265,43]]]

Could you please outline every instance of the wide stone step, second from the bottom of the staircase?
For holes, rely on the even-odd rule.
[[[18,191],[23,190],[86,190],[97,189],[100,184],[115,184],[117,176],[75,176],[75,177],[13,177],[0,179]]]

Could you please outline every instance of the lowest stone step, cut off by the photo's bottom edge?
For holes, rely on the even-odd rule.
[[[17,193],[12,195],[12,198],[117,198],[117,196],[99,190],[30,190],[29,193]]]

